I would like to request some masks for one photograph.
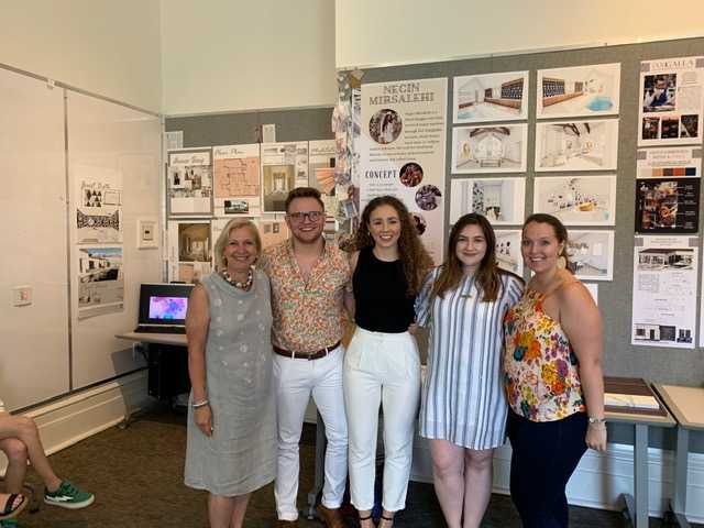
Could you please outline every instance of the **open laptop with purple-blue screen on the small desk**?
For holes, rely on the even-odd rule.
[[[142,284],[135,332],[186,333],[186,311],[193,284]]]

